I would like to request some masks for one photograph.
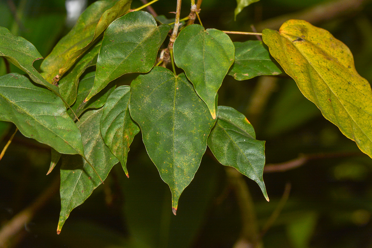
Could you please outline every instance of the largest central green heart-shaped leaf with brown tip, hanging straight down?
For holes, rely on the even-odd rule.
[[[141,127],[148,155],[170,187],[176,214],[178,199],[198,170],[215,120],[185,74],[176,76],[155,67],[138,76],[131,88],[129,111]]]

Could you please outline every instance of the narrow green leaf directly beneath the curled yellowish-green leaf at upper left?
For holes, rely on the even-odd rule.
[[[87,52],[71,69],[71,71],[61,78],[58,82],[61,96],[71,106],[76,100],[76,91],[79,85],[79,78],[84,71],[97,63],[97,57],[101,43],[99,42],[89,52]]]

